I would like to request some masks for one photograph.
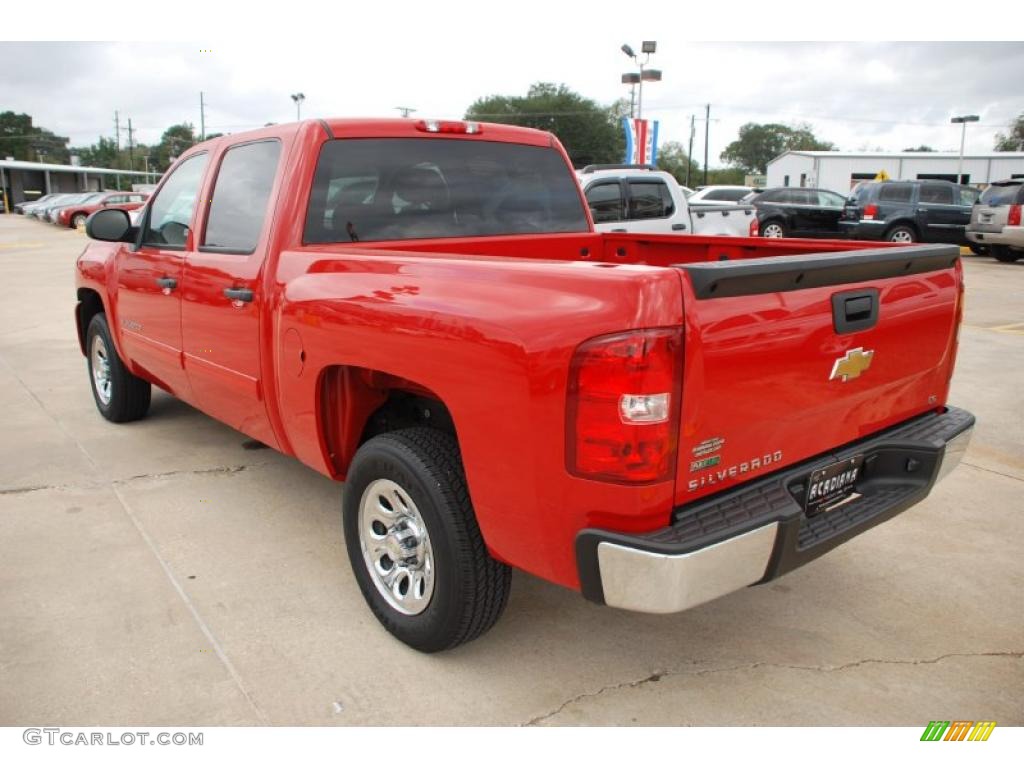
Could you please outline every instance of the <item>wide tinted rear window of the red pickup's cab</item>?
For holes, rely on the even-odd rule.
[[[552,147],[446,138],[328,141],[306,243],[588,231],[572,172]]]

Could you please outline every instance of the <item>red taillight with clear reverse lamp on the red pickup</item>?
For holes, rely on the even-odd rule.
[[[630,331],[580,345],[566,403],[569,472],[628,483],[672,476],[682,352],[680,329]]]

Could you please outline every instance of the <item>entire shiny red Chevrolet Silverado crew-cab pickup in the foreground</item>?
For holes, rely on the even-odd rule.
[[[100,414],[156,385],[344,480],[361,592],[424,651],[489,629],[511,566],[656,612],[775,579],[928,496],[974,423],[955,246],[598,233],[541,131],[222,136],[86,231]]]

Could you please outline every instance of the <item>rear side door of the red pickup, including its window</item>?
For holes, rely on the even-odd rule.
[[[197,404],[276,446],[260,386],[261,274],[282,142],[227,146],[207,185],[199,245],[184,265],[181,336]]]

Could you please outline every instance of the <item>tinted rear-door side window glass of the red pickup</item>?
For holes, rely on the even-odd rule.
[[[280,157],[278,140],[240,144],[224,153],[201,248],[241,252],[256,248]]]

